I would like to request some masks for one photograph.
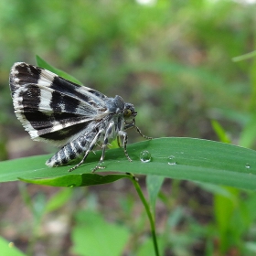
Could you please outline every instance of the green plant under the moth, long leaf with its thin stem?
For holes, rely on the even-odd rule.
[[[47,68],[50,69],[50,66]],[[55,72],[58,72],[58,70],[55,69]],[[64,73],[61,75],[65,76]],[[54,187],[85,187],[129,178],[133,182],[149,218],[155,255],[160,255],[155,230],[155,200],[165,177],[255,189],[256,152],[250,149],[192,138],[158,138],[130,144],[127,150],[133,159],[132,163],[127,161],[123,155],[123,150],[119,148],[106,152],[104,161],[106,168],[102,170],[102,173],[113,171],[120,174],[106,176],[97,173],[91,174],[91,168],[97,165],[100,159],[101,151],[97,151],[95,155],[89,155],[86,163],[73,173],[67,172],[69,169],[67,166],[55,168],[53,172],[52,169],[44,165],[48,155],[5,161],[0,163],[0,181],[23,180],[37,185]],[[141,155],[144,151],[148,152],[146,161]],[[138,181],[133,175],[126,175],[127,172],[147,176],[146,184],[149,201],[144,198]],[[45,211],[37,210],[36,207],[33,207],[31,200],[27,197],[26,190],[23,190],[23,195],[27,206],[34,212],[36,224],[39,225]],[[40,202],[40,207],[45,205],[43,197],[38,196],[37,199]],[[229,218],[228,215],[227,218]],[[101,220],[99,219],[99,221]],[[220,222],[221,220],[219,220]],[[221,223],[225,223],[225,219]],[[222,229],[223,225],[221,225],[219,230]],[[110,230],[112,228],[106,227],[106,229]],[[76,232],[81,231],[82,229],[78,229],[74,231],[73,235],[76,237]],[[126,240],[127,232],[124,230],[121,232],[123,232],[123,240]],[[224,228],[223,236],[225,236]],[[36,235],[33,237],[36,238]],[[159,238],[159,240],[162,240],[162,238]],[[120,248],[117,250],[120,250]]]

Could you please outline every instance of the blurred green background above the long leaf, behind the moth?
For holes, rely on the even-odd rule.
[[[233,144],[255,149],[256,60],[232,61],[255,49],[255,14],[245,1],[1,0],[0,160],[55,151],[30,140],[8,87],[13,63],[36,55],[132,102],[146,135],[218,140],[217,120]]]

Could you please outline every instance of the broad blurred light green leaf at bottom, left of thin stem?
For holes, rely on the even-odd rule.
[[[72,251],[79,255],[123,255],[129,231],[125,227],[108,223],[97,212],[80,211],[72,229]]]

